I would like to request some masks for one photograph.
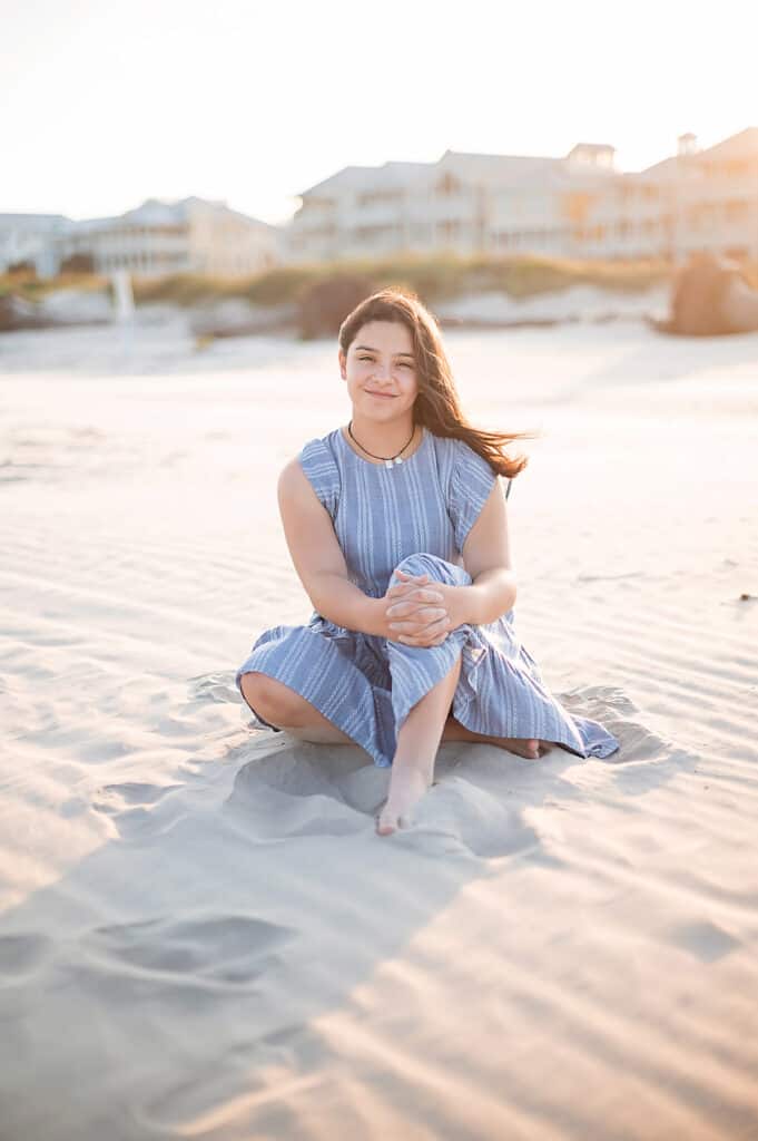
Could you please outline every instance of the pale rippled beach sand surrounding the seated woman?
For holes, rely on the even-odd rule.
[[[456,333],[538,427],[516,623],[608,761],[248,728],[310,604],[276,474],[329,343],[0,340],[2,1141],[758,1136],[758,338]],[[741,592],[752,598],[740,601]]]

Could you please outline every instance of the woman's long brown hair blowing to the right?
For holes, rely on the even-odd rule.
[[[410,332],[418,381],[414,404],[416,423],[424,424],[433,436],[464,440],[498,476],[512,479],[527,467],[525,455],[507,456],[502,448],[514,439],[533,439],[535,432],[484,431],[468,422],[460,407],[439,325],[413,290],[391,285],[357,305],[340,326],[340,348],[345,356],[359,330],[369,321],[394,321]]]

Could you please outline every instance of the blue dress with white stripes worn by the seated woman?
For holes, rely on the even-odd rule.
[[[388,468],[361,459],[337,428],[309,440],[299,461],[332,517],[350,580],[364,593],[382,598],[400,581],[398,567],[471,584],[460,551],[498,476],[463,440],[423,428],[413,455]],[[521,645],[513,609],[492,623],[460,625],[430,647],[347,630],[313,612],[305,625],[264,630],[235,680],[241,693],[250,671],[290,686],[386,768],[409,711],[458,655],[451,712],[466,728],[554,742],[584,758],[619,747],[598,722],[571,715],[553,697]],[[252,712],[259,727],[280,731]]]

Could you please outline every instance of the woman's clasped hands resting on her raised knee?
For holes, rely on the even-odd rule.
[[[440,646],[460,624],[454,613],[456,588],[435,580],[430,583],[427,574],[396,574],[404,581],[384,596],[390,604],[384,612],[386,637],[405,646]]]

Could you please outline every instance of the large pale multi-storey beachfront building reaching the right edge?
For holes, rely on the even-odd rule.
[[[305,191],[286,229],[291,261],[397,252],[686,260],[758,258],[758,128],[638,173],[609,144],[562,159],[447,151],[435,163],[347,167]]]

